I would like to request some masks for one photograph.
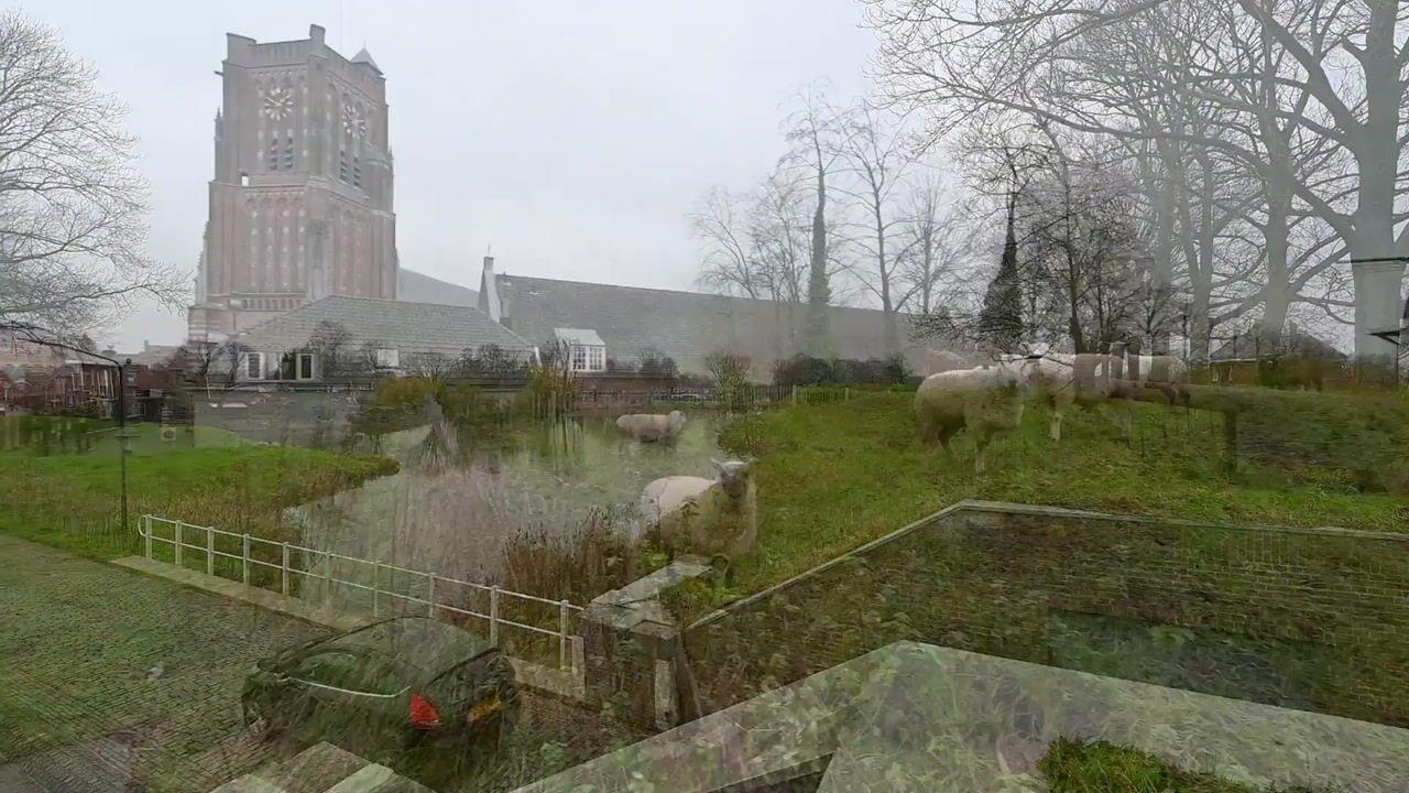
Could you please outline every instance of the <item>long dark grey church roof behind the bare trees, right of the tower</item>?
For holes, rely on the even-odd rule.
[[[766,380],[778,358],[796,350],[788,340],[789,312],[802,329],[806,306],[699,292],[583,284],[496,274],[506,325],[534,344],[554,329],[596,330],[607,356],[633,361],[644,350],[672,358],[685,373],[703,373],[704,357],[724,349],[747,354],[754,375]],[[883,315],[876,309],[828,306],[836,354],[841,358],[885,356]],[[920,371],[926,350],[909,343],[909,322],[900,317],[900,344]],[[781,339],[781,341],[779,341]]]

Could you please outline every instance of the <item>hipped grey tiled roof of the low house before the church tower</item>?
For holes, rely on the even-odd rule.
[[[342,325],[349,334],[348,343],[354,347],[372,343],[402,353],[447,356],[458,356],[483,344],[519,351],[533,349],[533,344],[479,309],[345,295],[323,298],[276,316],[242,333],[240,340],[254,350],[296,350],[306,347],[324,322]]]

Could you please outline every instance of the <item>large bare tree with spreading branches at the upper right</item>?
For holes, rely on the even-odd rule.
[[[1220,8],[1227,16],[1210,27]],[[943,0],[871,0],[869,20],[882,34],[892,93],[936,110],[940,130],[962,124],[978,107],[1002,106],[1148,147],[1167,179],[1155,213],[1157,267],[1169,250],[1165,234],[1195,231],[1169,202],[1188,161],[1179,148],[1241,164],[1262,182],[1257,217],[1271,254],[1267,325],[1275,325],[1298,285],[1281,261],[1282,216],[1306,213],[1350,253],[1355,350],[1379,356],[1388,346],[1374,332],[1398,315],[1399,257],[1409,254],[1398,206],[1409,188],[1401,157],[1406,13],[1399,3],[1341,0],[981,0],[962,8]],[[1209,162],[1195,167],[1208,171]],[[1199,199],[1210,198],[1210,183],[1205,174]],[[1212,226],[1193,240],[1205,251]],[[1302,286],[1322,278],[1323,264],[1343,262],[1326,253],[1302,260],[1309,271]],[[1191,275],[1200,302],[1217,277],[1208,268]]]

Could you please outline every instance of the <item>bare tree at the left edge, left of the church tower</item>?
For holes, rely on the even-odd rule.
[[[139,293],[178,298],[142,250],[124,109],[94,78],[54,30],[0,14],[0,317],[82,329]]]

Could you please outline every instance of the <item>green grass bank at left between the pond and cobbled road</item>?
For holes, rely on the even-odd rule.
[[[309,449],[159,447],[128,457],[128,515],[151,512],[272,536],[285,507],[395,471],[396,463],[385,457]],[[121,556],[131,552],[132,539],[116,531],[118,492],[118,459],[101,449],[44,457],[0,453],[3,532],[86,556]]]

